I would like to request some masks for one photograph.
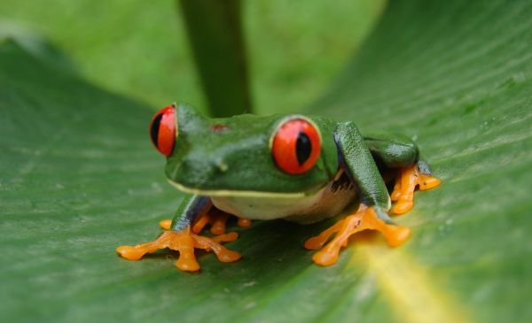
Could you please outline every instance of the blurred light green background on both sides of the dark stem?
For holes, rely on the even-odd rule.
[[[345,65],[383,0],[242,2],[254,111],[292,112],[317,98]],[[205,109],[174,0],[3,0],[0,36],[44,35],[90,81],[157,109]]]

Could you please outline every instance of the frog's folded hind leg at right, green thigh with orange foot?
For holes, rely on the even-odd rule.
[[[391,200],[396,202],[395,214],[411,210],[416,187],[426,190],[440,185],[440,180],[432,176],[426,162],[419,158],[418,146],[407,136],[372,135],[364,137],[364,140],[381,168],[392,171],[390,179],[395,178],[390,195]]]

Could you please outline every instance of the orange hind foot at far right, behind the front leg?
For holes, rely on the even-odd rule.
[[[414,206],[414,189],[417,186],[419,190],[426,190],[438,185],[440,185],[440,180],[419,172],[416,165],[401,169],[395,177],[394,191],[390,196],[392,201],[397,202],[394,213],[403,214],[411,210]]]

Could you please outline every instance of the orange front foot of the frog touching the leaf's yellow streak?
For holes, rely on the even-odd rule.
[[[411,235],[410,228],[386,224],[383,220],[379,219],[377,213],[372,208],[360,204],[355,214],[340,219],[332,227],[307,240],[305,242],[305,248],[319,250],[312,256],[312,260],[317,265],[333,265],[338,261],[338,254],[341,247],[348,245],[349,236],[366,229],[380,231],[386,237],[387,244],[391,247],[401,245]],[[331,242],[327,243],[324,247],[325,242],[334,234],[336,235]]]

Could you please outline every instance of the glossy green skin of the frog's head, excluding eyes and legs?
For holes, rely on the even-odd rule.
[[[209,119],[187,105],[176,110],[176,146],[168,157],[166,174],[187,188],[309,192],[323,187],[338,170],[331,135],[336,124],[330,120],[309,118],[323,135],[321,156],[309,172],[291,175],[278,169],[269,147],[271,134],[286,116]],[[227,128],[215,130],[215,125]]]

